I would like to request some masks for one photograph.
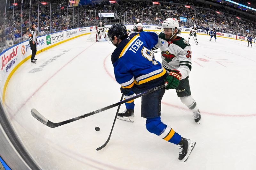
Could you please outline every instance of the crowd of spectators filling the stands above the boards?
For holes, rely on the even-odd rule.
[[[119,0],[117,1],[118,6],[110,4],[108,1],[101,1],[97,4],[74,8],[67,8],[65,6],[67,5],[66,1],[65,3],[58,0],[52,2],[54,3],[51,5],[50,3],[46,5],[39,4],[39,13],[39,1],[36,0],[32,0],[31,8],[29,8],[29,1],[23,1],[22,14],[20,4],[8,6],[6,14],[4,13],[4,7],[0,7],[0,52],[21,41],[28,40],[31,22],[37,23],[37,36],[42,36],[81,26],[98,25],[100,21],[104,25],[110,24],[110,22],[111,24],[119,22],[119,19],[112,18],[110,20],[110,18],[99,15],[101,12],[115,11],[118,14],[121,13],[121,22],[127,25],[133,24],[136,19],[140,19],[143,25],[161,25],[165,18],[180,19],[180,17],[185,17],[188,18],[190,23],[180,21],[180,27],[189,27],[195,24],[199,28],[215,27],[224,33],[245,33],[245,30],[249,30],[250,34],[256,36],[254,26],[256,15],[254,13],[252,15],[255,15],[255,17],[250,17],[250,20],[254,22],[250,22],[246,19],[248,18],[246,13],[237,13],[235,10],[229,10],[224,6],[215,6],[196,0],[172,0],[173,3],[162,0],[160,1],[161,9],[157,5],[153,5],[151,1]],[[241,0],[240,3],[242,2],[244,3]],[[190,5],[191,8],[186,8],[185,4]],[[220,14],[215,11],[220,11]],[[241,19],[237,19],[236,16]],[[22,22],[20,22],[21,18]]]

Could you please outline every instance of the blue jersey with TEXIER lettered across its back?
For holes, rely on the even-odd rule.
[[[156,61],[151,49],[157,44],[154,32],[132,33],[112,53],[116,81],[134,93],[164,84],[166,70]]]

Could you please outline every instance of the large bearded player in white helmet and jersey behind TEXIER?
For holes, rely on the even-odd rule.
[[[158,35],[158,43],[153,50],[160,48],[162,65],[167,72],[179,72],[181,80],[176,88],[176,93],[181,102],[185,104],[192,112],[196,123],[200,124],[201,115],[196,105],[196,101],[191,95],[188,75],[192,68],[191,46],[184,38],[177,36],[180,34],[179,22],[176,18],[167,18],[164,20],[163,31]]]

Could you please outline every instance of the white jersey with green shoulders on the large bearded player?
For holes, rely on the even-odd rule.
[[[175,40],[166,40],[164,33],[158,35],[158,43],[152,48],[160,48],[162,65],[168,71],[179,70],[181,79],[188,77],[191,70],[191,46],[187,40],[178,37]]]

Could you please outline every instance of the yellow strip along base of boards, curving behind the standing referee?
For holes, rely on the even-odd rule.
[[[41,53],[41,52],[43,52],[43,51],[45,51],[45,50],[47,50],[47,49],[49,49],[49,48],[52,48],[52,47],[54,47],[54,46],[56,46],[56,45],[59,45],[59,44],[63,43],[63,42],[66,42],[66,41],[69,41],[69,40],[72,40],[72,39],[74,39],[74,38],[80,37],[80,36],[82,36],[82,35],[87,35],[87,34],[90,34],[90,33],[84,33],[84,34],[81,34],[81,35],[77,35],[77,36],[75,36],[75,37],[72,37],[72,38],[70,38],[70,39],[68,39],[68,40],[64,40],[64,41],[58,42],[58,43],[56,43],[56,44],[53,44],[53,45],[51,45],[51,46],[49,46],[49,47],[46,47],[46,48],[43,48],[43,49],[37,51],[36,54],[39,54],[39,53]],[[24,58],[18,65],[16,65],[16,66],[13,68],[13,70],[10,72],[9,76],[7,77],[7,79],[6,79],[5,83],[4,83],[4,90],[3,90],[3,97],[2,97],[3,104],[4,104],[4,100],[5,100],[6,88],[7,88],[7,85],[8,85],[8,83],[9,83],[9,81],[10,81],[12,75],[13,75],[14,72],[21,66],[21,64],[25,63],[25,62],[26,62],[28,59],[30,59],[30,58],[31,58],[31,55],[28,55],[26,58]]]

